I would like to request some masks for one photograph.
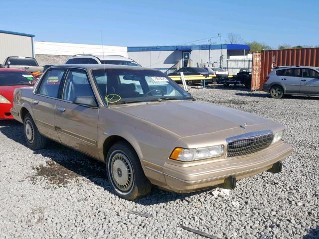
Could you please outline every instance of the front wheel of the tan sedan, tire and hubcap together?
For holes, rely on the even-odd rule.
[[[140,159],[132,146],[120,141],[107,154],[107,174],[115,193],[126,200],[135,200],[151,192]]]

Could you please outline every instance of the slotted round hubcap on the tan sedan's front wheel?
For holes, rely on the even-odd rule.
[[[123,153],[116,153],[111,161],[111,175],[114,184],[121,191],[129,191],[133,185],[131,162]]]

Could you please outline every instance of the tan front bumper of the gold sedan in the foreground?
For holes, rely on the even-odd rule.
[[[278,161],[284,161],[291,152],[292,147],[289,144],[279,143],[251,155],[216,159],[207,164],[181,166],[168,161],[163,167],[167,184],[165,188],[187,193],[223,184],[229,176],[240,180],[267,171]]]

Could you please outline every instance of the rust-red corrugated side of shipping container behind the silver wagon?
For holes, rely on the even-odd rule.
[[[319,66],[319,48],[262,51],[260,87],[276,66]]]

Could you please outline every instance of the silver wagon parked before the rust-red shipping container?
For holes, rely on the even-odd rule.
[[[284,95],[319,95],[319,67],[281,66],[276,67],[266,77],[263,91],[272,98]]]

